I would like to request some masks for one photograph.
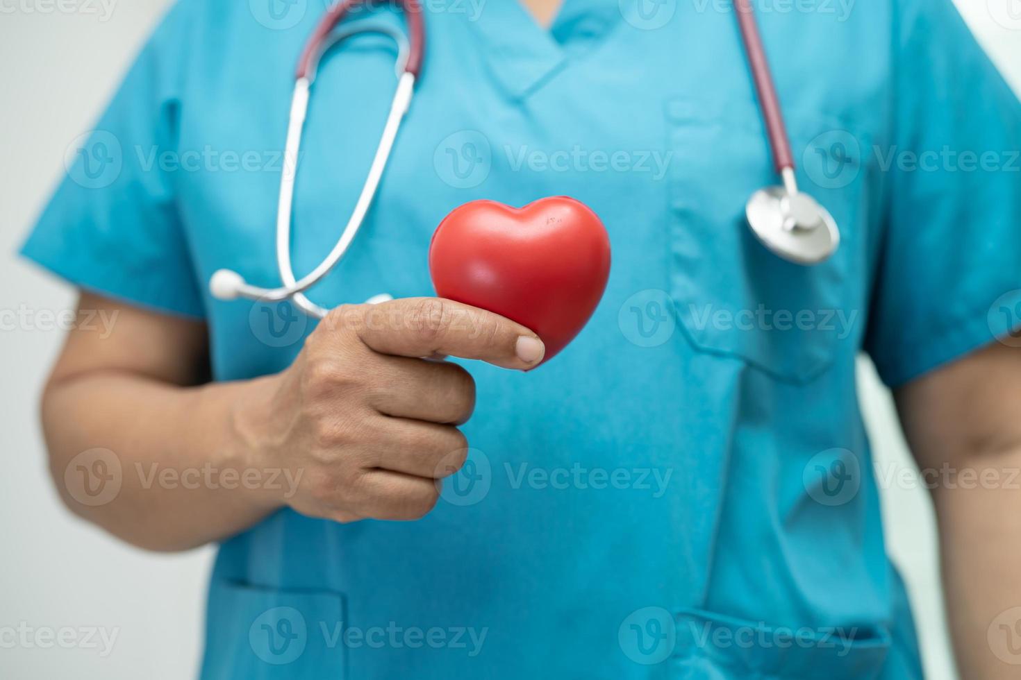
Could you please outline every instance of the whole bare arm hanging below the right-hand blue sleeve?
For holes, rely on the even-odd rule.
[[[1021,650],[1007,646],[1021,637],[1007,637],[1016,633],[1000,624],[1015,628],[1021,617],[1002,616],[1021,607],[1021,350],[991,345],[894,397],[919,467],[940,471],[929,481],[937,481],[932,499],[961,677],[1015,678],[1017,667],[1002,658],[1021,661]],[[944,465],[957,477],[942,474]]]

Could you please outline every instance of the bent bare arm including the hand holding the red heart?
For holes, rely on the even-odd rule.
[[[226,538],[285,506],[336,521],[422,517],[436,479],[464,462],[455,425],[475,386],[459,366],[417,357],[521,370],[542,357],[534,333],[502,317],[409,299],[335,310],[281,373],[200,384],[204,324],[87,294],[80,309],[115,320],[108,336],[71,330],[44,390],[53,479],[72,511],[159,551]],[[101,471],[120,483],[98,504],[67,482],[94,449],[112,452]]]

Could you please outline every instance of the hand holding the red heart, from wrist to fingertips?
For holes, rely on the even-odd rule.
[[[285,500],[296,511],[338,522],[419,519],[436,505],[437,480],[464,465],[456,425],[475,408],[468,371],[435,359],[528,370],[543,352],[528,328],[449,300],[338,307],[235,420],[258,465],[300,471]]]

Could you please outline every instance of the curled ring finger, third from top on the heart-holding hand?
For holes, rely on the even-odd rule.
[[[382,432],[366,467],[442,479],[460,469],[468,456],[468,439],[453,425],[380,416]]]

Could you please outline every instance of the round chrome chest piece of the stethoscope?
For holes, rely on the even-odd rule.
[[[833,216],[808,194],[767,187],[751,195],[745,213],[759,241],[785,260],[817,264],[840,245]]]

